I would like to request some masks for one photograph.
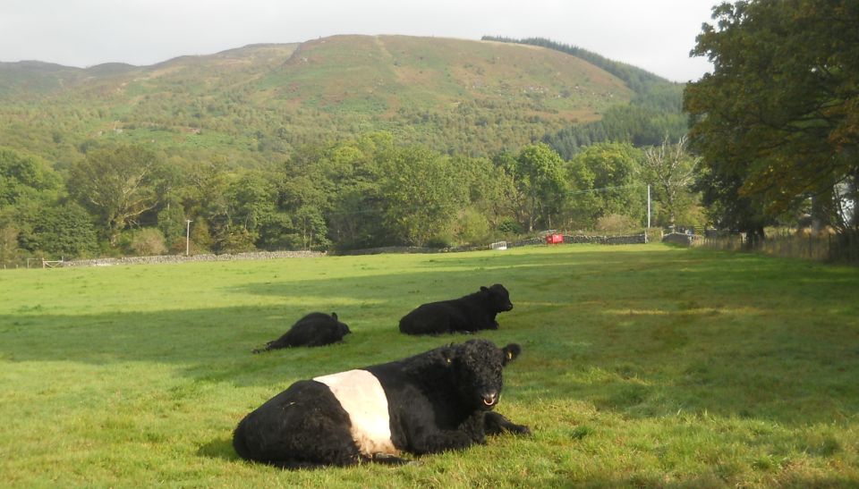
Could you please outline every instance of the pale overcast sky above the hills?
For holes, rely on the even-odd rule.
[[[719,0],[0,0],[0,61],[149,65],[336,34],[549,38],[674,81]]]

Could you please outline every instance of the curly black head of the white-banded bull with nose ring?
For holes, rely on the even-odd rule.
[[[501,398],[501,371],[520,351],[522,348],[516,343],[498,348],[486,340],[452,345],[447,362],[453,369],[460,400],[474,410],[494,409]]]

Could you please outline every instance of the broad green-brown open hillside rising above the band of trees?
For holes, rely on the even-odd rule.
[[[249,165],[381,129],[486,154],[598,120],[633,96],[597,66],[543,47],[336,36],[143,67],[0,63],[0,141],[60,162],[124,141]]]

